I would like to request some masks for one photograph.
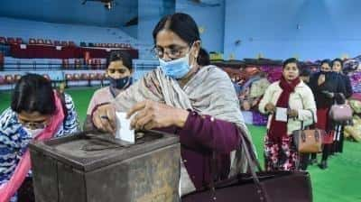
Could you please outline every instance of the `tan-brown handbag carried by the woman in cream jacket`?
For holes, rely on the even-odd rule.
[[[312,124],[315,124],[315,116],[312,115]],[[322,140],[326,132],[321,129],[304,130],[303,121],[301,121],[301,130],[292,133],[293,142],[298,152],[301,153],[317,153],[322,151]]]

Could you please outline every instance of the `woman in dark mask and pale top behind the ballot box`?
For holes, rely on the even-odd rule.
[[[110,86],[98,89],[91,97],[84,130],[94,129],[90,115],[95,106],[113,101],[120,92],[132,85],[133,64],[130,55],[121,50],[112,51],[107,60],[106,74],[110,80]]]

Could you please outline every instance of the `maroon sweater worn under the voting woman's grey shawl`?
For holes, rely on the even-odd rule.
[[[212,179],[212,152],[216,152],[214,178],[227,179],[230,152],[236,150],[240,143],[236,124],[190,112],[183,128],[167,128],[162,131],[180,135],[181,158],[197,189],[208,186]]]

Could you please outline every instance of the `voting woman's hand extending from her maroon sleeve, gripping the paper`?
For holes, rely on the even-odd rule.
[[[132,117],[132,115],[134,115]],[[171,125],[183,127],[188,118],[187,110],[174,108],[152,100],[135,104],[127,113],[131,117],[131,127],[135,130],[163,128]]]

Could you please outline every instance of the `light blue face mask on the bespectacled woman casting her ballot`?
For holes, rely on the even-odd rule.
[[[179,79],[183,78],[190,71],[190,54],[187,53],[183,58],[171,61],[159,59],[160,68],[166,76]]]

